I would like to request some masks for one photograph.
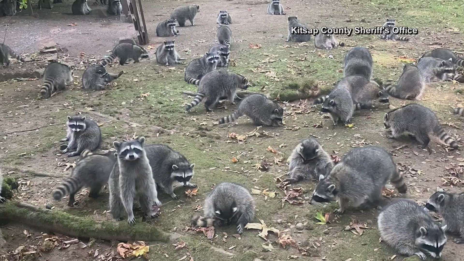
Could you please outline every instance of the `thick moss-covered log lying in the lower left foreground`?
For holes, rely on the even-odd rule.
[[[168,242],[176,236],[161,231],[156,224],[137,222],[129,226],[124,221],[96,221],[89,217],[40,208],[14,200],[0,204],[0,220],[77,238]]]

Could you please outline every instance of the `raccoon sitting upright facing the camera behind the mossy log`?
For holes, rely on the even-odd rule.
[[[161,206],[153,171],[144,150],[145,137],[126,142],[113,142],[117,161],[110,174],[110,209],[115,220],[122,220],[125,210],[129,224],[135,223],[132,207],[139,201],[142,211],[150,218],[159,216],[152,209]]]

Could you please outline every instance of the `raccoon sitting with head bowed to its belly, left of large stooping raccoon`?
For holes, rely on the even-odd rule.
[[[329,154],[314,138],[305,138],[292,151],[288,178],[283,182],[296,183],[327,176],[334,167]]]

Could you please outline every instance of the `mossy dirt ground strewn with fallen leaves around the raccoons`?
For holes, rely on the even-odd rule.
[[[461,47],[464,44],[461,33],[464,31],[464,7],[455,1],[282,1],[288,15],[297,15],[308,26],[373,27],[382,25],[387,17],[393,17],[401,26],[419,29],[418,35],[410,36],[410,42],[386,42],[375,35],[338,36],[347,46],[321,51],[315,49],[312,40],[307,44],[285,42],[287,18],[267,15],[266,1],[145,0],[142,4],[150,38],[146,49],[151,59],[124,66],[115,63],[108,71],[115,73],[124,70],[125,73],[108,90],[95,92],[79,90],[85,66],[108,54],[107,51],[120,37],[133,37],[134,29],[132,24],[122,23],[116,17],[65,14],[71,13],[71,4],[67,1],[55,4],[52,10],[34,9],[39,14],[38,18],[21,14],[11,20],[0,17],[1,28],[9,23],[5,43],[17,53],[30,56],[44,46],[58,44],[67,50],[60,52],[58,58],[77,65],[74,86],[50,99],[39,97],[38,79],[13,79],[0,83],[0,166],[6,177],[19,177],[21,185],[19,193],[14,193],[15,200],[39,207],[51,203],[53,211],[111,222],[111,215],[107,211],[107,188],[97,199],[88,198],[88,190],[82,190],[76,198],[79,204],[73,208],[66,206],[67,200],[54,202],[52,199],[53,187],[63,181],[69,173],[68,165],[76,161],[75,157],[68,158],[59,152],[59,140],[65,136],[66,116],[76,114],[85,115],[100,124],[104,135],[101,149],[109,149],[114,140],[121,141],[126,135],[144,136],[147,143],[168,144],[196,164],[192,182],[199,185],[199,195],[188,197],[177,191],[176,194],[182,196],[179,200],[172,200],[160,193],[163,202],[161,217],[152,221],[153,226],[159,226],[165,232],[180,234],[178,241],[186,242],[186,246],[174,249],[172,244],[176,242],[148,242],[148,259],[151,260],[402,260],[403,256],[396,255],[385,244],[379,243],[376,229],[378,209],[360,211],[349,208],[345,214],[335,215],[332,212],[337,209],[336,203],[311,206],[304,197],[312,195],[316,182],[296,183],[293,187],[303,188],[300,198],[303,203],[287,202],[282,207],[281,199],[285,195],[276,186],[276,178],[284,175],[288,169],[285,163],[287,157],[305,137],[316,137],[334,157],[342,157],[354,147],[382,146],[392,153],[405,177],[408,185],[406,197],[419,204],[424,204],[437,186],[450,192],[463,192],[462,149],[450,150],[431,142],[433,153],[428,155],[406,134],[397,140],[387,139],[383,126],[384,113],[389,111],[386,105],[375,103],[373,110],[357,111],[351,127],[333,127],[327,116],[318,114],[320,108],[312,105],[311,100],[282,102],[285,126],[262,127],[258,130],[260,135],[253,135],[256,126],[247,117],[241,117],[233,124],[217,125],[219,117],[232,113],[234,105],[225,102],[225,108],[206,113],[200,103],[186,114],[183,107],[193,97],[182,95],[182,91],[197,90],[196,86],[184,82],[183,73],[190,60],[203,55],[215,43],[219,10],[227,10],[233,22],[230,25],[232,61],[228,70],[248,77],[252,84],[250,91],[270,93],[290,81],[305,78],[318,80],[323,90],[330,89],[342,78],[343,58],[352,46],[369,48],[374,58],[373,77],[383,81],[398,79],[401,59],[419,59],[422,53],[438,47],[464,51]],[[179,27],[180,36],[175,37],[176,48],[187,61],[170,68],[157,64],[156,46],[170,38],[156,37],[156,25],[166,19],[174,7],[193,4],[200,5],[200,13],[195,18],[196,26],[190,26],[187,22],[186,27]],[[90,7],[103,8],[93,2],[90,2]],[[68,26],[73,23],[76,26]],[[251,43],[261,47],[251,49]],[[36,70],[44,66],[45,63],[19,64],[12,60],[7,70]],[[417,101],[435,111],[443,127],[457,139],[464,135],[463,119],[452,115],[450,109],[463,105],[462,88],[462,84],[451,82],[430,84],[425,98]],[[412,102],[390,98],[390,103],[399,107]],[[14,132],[49,124],[58,125]],[[173,131],[157,133],[153,126]],[[246,139],[232,138],[231,133],[244,135]],[[458,143],[463,145],[459,139]],[[238,159],[238,162],[233,162],[235,160],[232,161],[232,158]],[[271,163],[269,170],[257,170],[257,166],[265,160]],[[190,216],[196,213],[210,189],[224,181],[241,183],[249,189],[276,192],[275,197],[254,195],[257,205],[255,222],[262,219],[268,226],[279,229],[282,235],[290,235],[299,244],[300,250],[291,246],[283,248],[278,243],[278,237],[272,233],[268,235],[269,241],[264,241],[258,237],[256,229],[246,230],[236,238],[232,236],[236,233],[233,226],[216,228],[213,239],[207,239],[202,233],[186,231]],[[386,195],[382,206],[391,197],[398,196],[396,192]],[[330,223],[316,224],[318,221],[314,216],[318,212],[322,215],[329,213]],[[353,220],[369,228],[364,229],[362,235],[346,231],[345,227]],[[304,224],[304,229],[296,229],[299,222]],[[44,245],[45,239],[51,237],[42,234],[50,234],[48,231],[20,224],[2,224],[0,228],[6,239],[6,247],[0,249],[0,260],[2,257],[5,260],[18,260],[19,255],[13,253],[15,249],[25,245],[26,248],[39,246],[38,249],[42,249],[40,246]],[[448,235],[442,256],[444,261],[461,261],[464,256],[464,246],[453,243],[453,238],[455,235]],[[57,243],[52,251],[38,251],[38,256],[25,260],[117,259],[117,241],[89,241],[82,238],[87,247],[80,248],[77,244],[66,247],[62,241],[68,239],[72,238],[55,235],[53,240]],[[270,243],[274,249],[266,251],[263,245],[267,247]],[[308,254],[303,255],[301,249]]]

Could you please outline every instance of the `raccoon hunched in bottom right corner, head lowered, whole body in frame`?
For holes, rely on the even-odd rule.
[[[380,212],[377,219],[380,238],[398,253],[441,257],[447,241],[446,225],[437,222],[418,204],[409,199],[396,199]]]

